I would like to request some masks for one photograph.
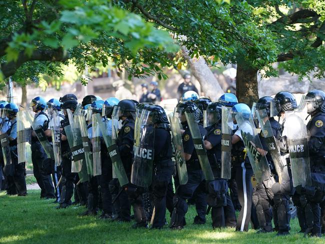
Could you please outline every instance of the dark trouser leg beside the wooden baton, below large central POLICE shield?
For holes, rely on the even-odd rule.
[[[152,228],[161,228],[165,224],[166,215],[166,194],[173,167],[164,167],[157,170],[152,182],[152,196],[154,206],[154,216]]]

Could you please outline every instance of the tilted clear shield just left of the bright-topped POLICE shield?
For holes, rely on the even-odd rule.
[[[270,153],[276,173],[278,175],[279,183],[282,182],[282,178],[289,178],[287,169],[286,169],[286,161],[280,154],[280,149],[277,144],[277,140],[274,137],[273,130],[271,124],[268,120],[267,112],[265,109],[255,110],[255,115],[258,119],[258,122],[261,126],[263,137],[267,143],[268,152]]]

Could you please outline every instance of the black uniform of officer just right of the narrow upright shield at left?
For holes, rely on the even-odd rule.
[[[62,134],[65,134],[64,126],[69,124],[68,117],[65,117],[62,122]],[[73,195],[73,182],[76,177],[76,173],[71,172],[71,160],[72,154],[67,140],[61,140],[61,155],[62,155],[62,178],[61,178],[61,194],[60,194],[60,206],[66,207],[71,204],[71,197]]]

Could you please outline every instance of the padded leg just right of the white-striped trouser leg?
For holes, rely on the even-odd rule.
[[[256,207],[258,224],[261,230],[259,232],[272,231],[272,214],[269,208],[268,198],[262,183],[256,185],[252,195],[252,201]]]

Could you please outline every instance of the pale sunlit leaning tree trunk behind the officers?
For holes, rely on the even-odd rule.
[[[201,85],[201,90],[204,92],[205,97],[216,101],[220,95],[224,93],[217,78],[214,76],[210,68],[207,66],[204,58],[200,56],[198,59],[191,58],[188,55],[188,50],[181,47],[183,56],[190,65],[190,69],[194,77]]]

